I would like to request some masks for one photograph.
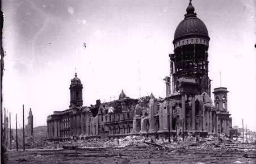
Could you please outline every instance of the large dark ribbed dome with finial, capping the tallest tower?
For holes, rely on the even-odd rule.
[[[173,43],[187,37],[202,37],[209,41],[208,30],[204,22],[196,17],[194,11],[195,8],[190,1],[184,20],[179,23],[175,30]]]

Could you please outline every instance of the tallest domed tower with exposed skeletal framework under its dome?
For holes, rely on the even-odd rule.
[[[208,78],[208,31],[195,13],[192,3],[188,4],[184,20],[179,23],[174,34],[174,54],[170,54],[173,91],[180,90],[179,78],[187,77],[198,85],[199,94],[211,95]]]

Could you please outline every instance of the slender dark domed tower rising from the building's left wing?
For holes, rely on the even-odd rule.
[[[80,79],[77,77],[77,73],[75,73],[75,77],[71,80],[70,89],[70,106],[81,107],[83,106],[83,85]]]

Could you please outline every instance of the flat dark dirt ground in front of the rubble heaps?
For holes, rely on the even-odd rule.
[[[221,148],[124,148],[30,149],[7,151],[8,163],[256,163],[254,144],[225,144]]]

